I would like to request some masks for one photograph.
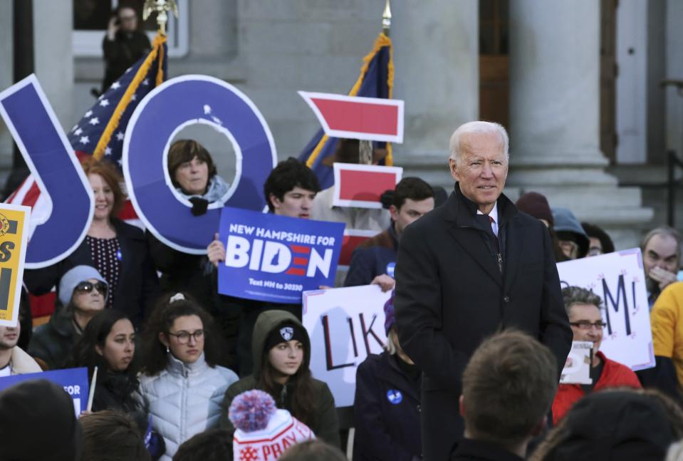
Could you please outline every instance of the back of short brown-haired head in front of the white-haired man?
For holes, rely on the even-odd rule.
[[[555,356],[531,336],[505,331],[486,339],[462,375],[469,437],[502,446],[525,440],[548,413],[557,376]]]

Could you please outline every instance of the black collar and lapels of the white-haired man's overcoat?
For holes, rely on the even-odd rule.
[[[503,240],[504,275],[516,274],[516,267],[520,257],[520,245],[517,226],[509,225],[518,218],[517,207],[504,194],[498,197],[499,239]],[[497,262],[490,257],[489,252],[481,252],[482,233],[488,234],[489,230],[481,227],[475,219],[476,203],[465,197],[460,191],[459,183],[455,183],[453,193],[444,204],[444,219],[451,224],[448,227],[449,234],[457,240],[460,246],[489,274],[500,286],[504,284],[504,276],[501,275]],[[511,277],[505,277],[506,287],[511,283]]]

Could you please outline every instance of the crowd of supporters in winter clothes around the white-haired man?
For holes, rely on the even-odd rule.
[[[338,160],[353,162],[353,152],[358,143],[343,141]],[[92,411],[75,420],[66,393],[46,381],[5,390],[0,459],[249,460],[232,452],[245,431],[236,408],[245,405],[252,413],[274,405],[272,418],[281,417],[275,409],[286,410],[310,431],[306,440],[317,439],[300,437],[273,459],[344,459],[340,450],[354,460],[422,458],[421,371],[398,341],[393,297],[384,307],[385,352],[358,366],[353,418],[346,421],[328,384],[311,375],[301,304],[218,294],[217,266],[225,259],[218,235],[206,255],[178,252],[118,219],[125,195],[115,167],[85,160],[83,168],[95,196],[93,222],[69,257],[25,271],[28,293],[56,291],[56,306],[33,329],[24,294],[20,324],[0,327],[0,377],[85,367],[92,378],[98,370]],[[209,152],[193,140],[170,147],[168,170],[195,216],[229,189]],[[383,291],[394,288],[403,230],[446,196],[405,177],[382,197],[385,208],[370,213],[337,209],[330,192],[319,192],[316,175],[293,158],[280,162],[264,184],[273,214],[375,230],[355,249],[338,285],[377,284]],[[615,251],[603,229],[579,222],[570,209],[551,208],[541,194],[528,192],[516,206],[546,224],[558,262]],[[600,297],[566,287],[574,339],[593,343],[593,383],[558,386],[553,356],[521,332],[486,339],[463,374],[464,439],[453,441],[452,459],[646,460],[663,459],[667,450],[670,459],[683,459],[675,444],[683,438],[681,244],[669,227],[652,229],[642,241],[655,368],[636,375],[605,356]],[[268,418],[259,430],[268,430]]]

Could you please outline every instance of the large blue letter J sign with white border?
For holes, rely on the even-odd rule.
[[[26,268],[50,266],[85,239],[93,190],[35,75],[0,93],[0,115],[51,205],[47,216],[31,219],[37,227],[28,237]]]

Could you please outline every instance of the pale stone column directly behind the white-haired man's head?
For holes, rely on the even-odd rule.
[[[391,6],[394,97],[405,100],[404,143],[395,145],[395,163],[405,175],[450,188],[450,135],[479,114],[479,4],[401,0]]]

